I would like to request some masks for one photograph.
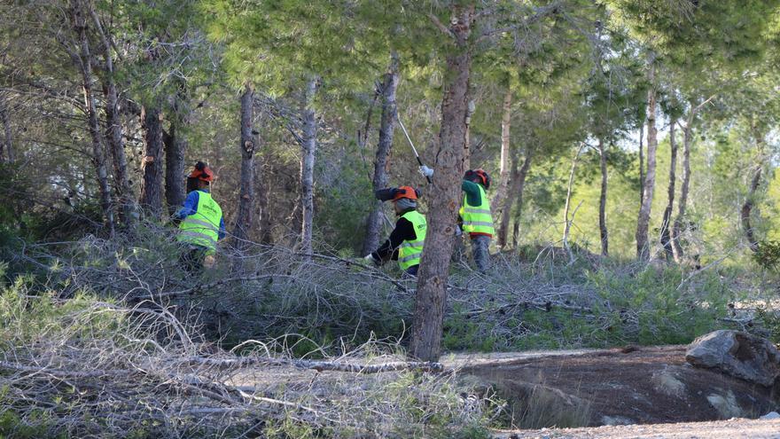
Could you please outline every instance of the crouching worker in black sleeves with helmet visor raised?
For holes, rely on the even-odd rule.
[[[364,259],[377,266],[388,260],[397,260],[401,270],[410,276],[417,276],[428,227],[425,216],[417,212],[419,191],[411,186],[401,186],[377,191],[376,196],[378,200],[393,200],[398,220],[385,243]]]

